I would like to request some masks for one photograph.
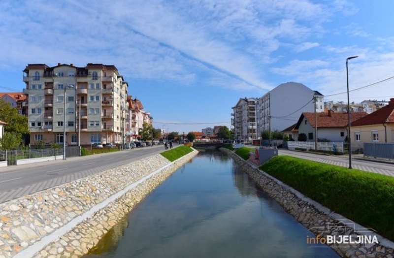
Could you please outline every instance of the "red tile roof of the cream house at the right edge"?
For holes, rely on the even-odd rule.
[[[353,126],[382,125],[394,123],[394,98],[390,99],[388,105],[381,107],[375,112],[352,122]]]

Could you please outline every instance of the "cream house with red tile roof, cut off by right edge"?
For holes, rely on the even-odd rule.
[[[388,105],[351,123],[352,144],[394,142],[394,98]]]

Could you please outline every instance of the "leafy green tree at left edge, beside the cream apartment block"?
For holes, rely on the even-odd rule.
[[[0,121],[7,123],[0,148],[7,150],[18,148],[22,144],[22,135],[29,133],[28,117],[20,115],[18,109],[0,99]]]

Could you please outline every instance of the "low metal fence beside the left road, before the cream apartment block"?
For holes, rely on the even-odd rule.
[[[38,150],[14,150],[14,151],[0,151],[0,161],[7,161],[7,165],[16,165],[16,161],[45,158],[52,156],[62,156],[62,148],[38,149]],[[66,157],[79,156],[78,146],[66,147]]]

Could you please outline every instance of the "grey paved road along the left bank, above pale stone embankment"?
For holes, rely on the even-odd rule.
[[[174,147],[176,147],[175,145]],[[0,168],[0,203],[140,160],[164,145]]]

